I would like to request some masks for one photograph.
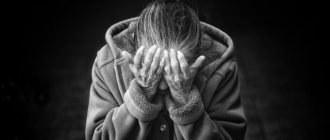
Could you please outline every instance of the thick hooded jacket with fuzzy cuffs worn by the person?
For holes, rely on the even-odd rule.
[[[177,105],[157,94],[146,100],[121,51],[134,52],[134,23],[121,21],[106,33],[92,68],[86,122],[87,140],[231,140],[244,139],[246,118],[240,101],[233,42],[221,30],[201,22],[202,52],[208,63],[196,74],[194,93]],[[169,90],[168,90],[169,92]],[[168,93],[169,94],[169,93]]]

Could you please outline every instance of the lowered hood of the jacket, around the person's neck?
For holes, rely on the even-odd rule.
[[[112,25],[106,32],[105,39],[113,53],[114,59],[123,59],[121,51],[134,53],[134,23],[137,17]],[[202,40],[201,55],[206,56],[206,63],[199,71],[204,78],[209,76],[226,60],[232,57],[234,45],[232,39],[220,29],[201,22]]]

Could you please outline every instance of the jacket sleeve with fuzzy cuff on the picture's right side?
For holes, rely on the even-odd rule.
[[[188,102],[183,105],[175,101],[177,97],[165,98],[175,124],[176,139],[244,139],[246,119],[240,102],[236,62],[227,62],[220,67],[207,85],[211,86],[205,87],[203,94],[209,97],[203,98],[203,101],[197,88],[184,97]]]

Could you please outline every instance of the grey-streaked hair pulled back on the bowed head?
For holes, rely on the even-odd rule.
[[[155,0],[140,14],[134,37],[137,46],[180,50],[190,62],[200,49],[201,35],[197,12],[190,6],[181,1]]]

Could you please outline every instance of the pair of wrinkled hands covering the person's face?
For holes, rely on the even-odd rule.
[[[189,66],[182,52],[171,49],[168,53],[156,45],[149,50],[141,46],[134,58],[126,51],[122,55],[128,59],[129,67],[147,99],[152,100],[157,89],[170,88],[172,97],[182,104],[187,101],[180,97],[190,93],[197,70],[205,60],[204,56],[200,56]]]

